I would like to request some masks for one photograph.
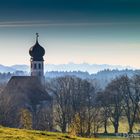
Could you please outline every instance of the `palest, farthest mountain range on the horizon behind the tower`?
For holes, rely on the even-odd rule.
[[[125,69],[135,69],[130,66],[121,66],[121,65],[108,65],[108,64],[88,64],[88,63],[68,63],[68,64],[45,64],[45,72],[47,71],[82,71],[88,72],[89,74],[94,74],[105,69],[109,70],[125,70]],[[12,65],[4,66],[0,65],[0,72],[15,72],[15,71],[26,71],[29,72],[30,68],[28,65]]]

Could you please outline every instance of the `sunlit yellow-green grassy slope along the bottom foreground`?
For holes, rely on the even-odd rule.
[[[68,134],[0,127],[0,140],[127,140],[125,138],[80,138]],[[134,139],[133,139],[134,140]],[[140,140],[135,139],[135,140]]]

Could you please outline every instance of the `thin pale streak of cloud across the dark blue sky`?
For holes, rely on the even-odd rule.
[[[64,22],[64,21],[8,21],[0,22],[0,27],[46,27],[46,26],[111,26],[140,25],[140,22]]]

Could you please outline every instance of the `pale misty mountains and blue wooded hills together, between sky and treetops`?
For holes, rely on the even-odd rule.
[[[45,77],[46,81],[53,78],[63,76],[74,76],[81,79],[87,79],[98,83],[100,88],[105,88],[107,84],[116,77],[127,75],[133,77],[134,75],[140,75],[140,70],[136,70],[129,66],[119,65],[98,65],[98,64],[46,64],[45,65]],[[0,83],[8,82],[12,76],[29,76],[30,68],[28,65],[13,65],[4,66],[0,65]]]

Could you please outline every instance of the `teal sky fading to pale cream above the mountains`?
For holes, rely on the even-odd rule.
[[[139,0],[0,0],[0,64],[28,64],[35,33],[45,63],[140,68]]]

